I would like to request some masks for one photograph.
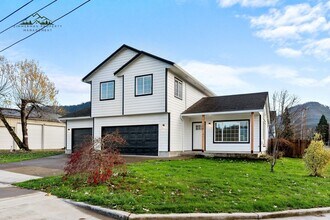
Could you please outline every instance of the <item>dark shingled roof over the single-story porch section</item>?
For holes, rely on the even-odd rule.
[[[204,97],[182,114],[259,110],[267,98],[268,92]]]

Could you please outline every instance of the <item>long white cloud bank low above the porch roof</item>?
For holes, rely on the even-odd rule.
[[[268,82],[279,85],[299,87],[326,87],[330,77],[314,79],[299,74],[300,70],[281,65],[261,65],[252,67],[234,67],[200,61],[181,62],[180,66],[199,79],[217,94],[250,92],[260,88],[260,81],[252,78],[266,78]],[[258,84],[258,85],[257,85]]]

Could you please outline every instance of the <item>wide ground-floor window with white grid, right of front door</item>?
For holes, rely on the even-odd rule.
[[[214,142],[249,142],[249,121],[214,122]]]

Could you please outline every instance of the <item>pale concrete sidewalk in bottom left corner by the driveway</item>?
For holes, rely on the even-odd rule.
[[[40,177],[0,170],[0,220],[111,219],[68,204],[44,192],[20,189],[11,185],[36,178]]]

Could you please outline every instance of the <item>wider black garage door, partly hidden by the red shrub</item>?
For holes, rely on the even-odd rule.
[[[102,136],[117,129],[127,142],[122,154],[158,155],[158,125],[102,127]]]

